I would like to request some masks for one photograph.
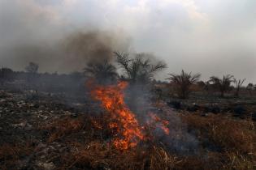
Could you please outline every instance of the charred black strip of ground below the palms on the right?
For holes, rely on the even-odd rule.
[[[187,100],[177,98],[167,98],[167,104],[171,108],[176,108],[177,112],[200,112],[203,115],[207,113],[224,114],[241,119],[252,118],[256,121],[256,98],[254,96],[206,96],[202,94],[193,94]]]

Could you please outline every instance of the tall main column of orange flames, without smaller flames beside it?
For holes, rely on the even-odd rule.
[[[136,147],[145,137],[135,114],[124,103],[124,88],[128,83],[120,82],[118,85],[97,86],[92,95],[101,101],[102,107],[110,113],[109,128],[115,132],[113,144],[119,150]]]

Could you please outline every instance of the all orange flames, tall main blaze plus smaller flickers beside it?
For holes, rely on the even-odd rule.
[[[109,113],[109,116],[106,116],[106,125],[113,135],[111,144],[121,151],[136,147],[139,142],[151,138],[143,131],[145,126],[140,126],[135,114],[124,103],[124,89],[127,86],[128,83],[126,82],[109,86],[94,85],[91,91],[93,98],[101,101],[102,108],[106,110],[106,113]],[[162,120],[155,113],[148,115],[150,120],[145,122],[148,127],[161,129],[164,134],[170,134],[169,121]],[[92,120],[92,123],[96,128],[102,129],[102,125],[98,124],[97,121]]]

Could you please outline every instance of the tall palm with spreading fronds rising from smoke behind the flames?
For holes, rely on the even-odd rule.
[[[149,85],[152,84],[154,75],[167,68],[167,65],[146,53],[129,56],[128,53],[115,52],[115,56],[117,64],[122,69],[121,79],[129,82],[127,89],[129,108],[135,113],[147,113],[150,88],[154,88]]]

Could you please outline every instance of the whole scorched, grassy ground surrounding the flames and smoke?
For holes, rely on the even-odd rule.
[[[73,104],[63,96],[35,91],[1,91],[0,169],[255,169],[251,117],[234,117],[234,108],[227,112],[231,115],[223,114],[219,104],[221,111],[214,114],[204,110],[207,104],[193,103],[183,101],[175,109],[184,123],[180,129],[188,133],[180,130],[182,134],[174,134],[179,140],[170,139],[178,149],[155,138],[130,151],[115,151],[108,146],[109,132],[92,123],[103,117],[97,104]],[[243,115],[249,115],[254,104],[244,105]],[[180,154],[180,146],[186,146],[179,142],[194,140],[197,153]]]

